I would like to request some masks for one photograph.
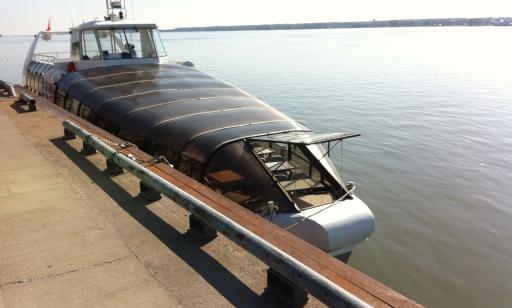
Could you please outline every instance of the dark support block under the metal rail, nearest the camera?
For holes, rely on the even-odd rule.
[[[303,307],[309,300],[306,291],[297,287],[271,268],[267,270],[267,287],[265,292],[291,307]]]

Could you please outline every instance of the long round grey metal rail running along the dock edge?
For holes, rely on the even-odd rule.
[[[326,305],[330,307],[370,307],[366,302],[305,266],[283,250],[179,189],[128,156],[114,150],[87,130],[68,120],[63,122],[63,126],[65,130],[82,139],[85,145],[103,154],[107,160],[135,175],[144,185],[175,201],[191,214],[224,234],[284,278],[312,294]]]

